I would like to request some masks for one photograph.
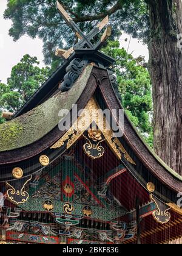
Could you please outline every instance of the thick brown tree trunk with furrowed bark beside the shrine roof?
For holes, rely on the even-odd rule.
[[[155,152],[182,175],[182,4],[148,0]]]

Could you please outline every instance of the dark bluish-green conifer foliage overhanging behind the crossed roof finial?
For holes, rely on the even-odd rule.
[[[109,14],[113,27],[112,39],[118,37],[121,30],[145,41],[149,35],[149,15],[144,0],[59,2],[85,32]],[[69,48],[75,41],[75,34],[55,9],[55,0],[8,0],[4,17],[13,22],[9,34],[15,41],[25,34],[43,40],[45,63],[53,61],[53,68],[61,62],[60,58],[55,57],[56,46]]]

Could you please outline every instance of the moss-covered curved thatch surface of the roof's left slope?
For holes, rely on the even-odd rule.
[[[87,66],[69,91],[60,92],[30,112],[1,124],[0,152],[32,144],[55,128],[61,120],[59,111],[72,109],[86,87],[92,68]]]

